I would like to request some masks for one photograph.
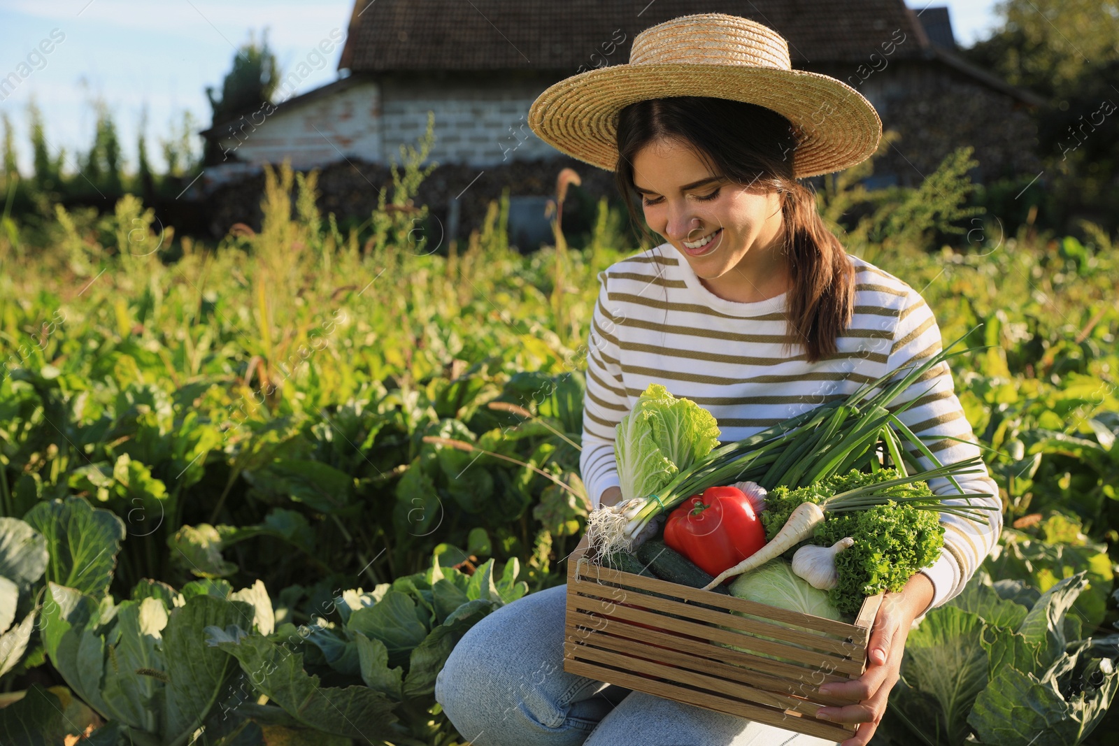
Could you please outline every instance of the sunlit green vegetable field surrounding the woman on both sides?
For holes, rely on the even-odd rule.
[[[584,246],[524,256],[504,200],[435,246],[391,209],[408,197],[344,233],[283,168],[261,232],[217,246],[131,196],[4,216],[0,743],[459,743],[434,676],[485,614],[565,579],[596,275],[639,247],[603,202]],[[999,718],[988,743],[1081,743],[1119,686],[1119,262],[1090,228],[977,219],[935,247],[887,217],[846,243],[982,348],[951,365],[1006,531],[1002,583],[911,633],[873,743]],[[1027,689],[1049,720],[999,709]]]

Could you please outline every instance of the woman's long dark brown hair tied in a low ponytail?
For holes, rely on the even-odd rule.
[[[820,219],[816,192],[792,176],[798,140],[789,120],[755,104],[706,96],[650,98],[622,108],[618,119],[621,158],[614,177],[630,218],[655,245],[662,239],[648,229],[638,211],[633,159],[661,139],[690,144],[715,173],[780,192],[782,253],[793,283],[786,350],[800,342],[809,362],[835,355],[836,338],[854,313],[855,268]]]

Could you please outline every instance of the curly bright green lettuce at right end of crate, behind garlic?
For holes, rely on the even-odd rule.
[[[767,495],[762,511],[767,538],[772,539],[802,502],[819,504],[833,494],[897,476],[893,469],[875,473],[852,470],[794,490],[775,488]],[[899,498],[933,494],[925,482],[897,484],[885,490],[886,494]],[[850,512],[826,512],[809,544],[830,547],[848,536],[855,544],[836,555],[839,584],[828,591],[831,604],[846,614],[858,613],[866,596],[901,591],[914,573],[937,560],[944,544],[944,528],[935,511],[893,500]]]

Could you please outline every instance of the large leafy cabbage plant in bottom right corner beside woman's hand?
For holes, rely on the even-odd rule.
[[[1072,746],[1099,725],[1119,688],[1113,644],[1071,640],[1078,573],[1035,596],[979,570],[909,633],[882,733],[933,743]],[[1027,605],[1028,604],[1028,605]],[[978,738],[978,740],[976,740]]]

